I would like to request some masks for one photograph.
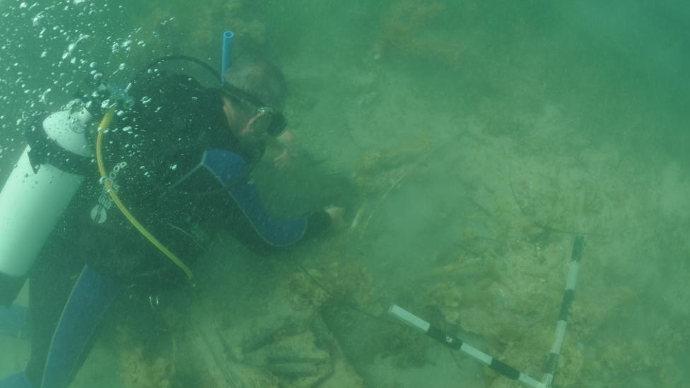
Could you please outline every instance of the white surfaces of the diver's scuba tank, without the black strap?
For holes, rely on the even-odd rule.
[[[42,127],[64,150],[93,157],[86,139],[92,118],[85,109],[61,111],[43,120]],[[16,277],[29,271],[84,179],[49,163],[34,172],[30,149],[26,146],[0,192],[0,272]]]

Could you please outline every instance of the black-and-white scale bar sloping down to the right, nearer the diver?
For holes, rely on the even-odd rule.
[[[479,360],[481,363],[488,365],[489,368],[496,370],[496,372],[500,373],[505,377],[523,382],[529,385],[530,387],[543,387],[541,382],[534,380],[532,377],[525,375],[524,373],[511,367],[510,365],[501,363],[501,361],[496,360],[496,358],[491,357],[491,355],[488,355],[483,351],[480,351],[474,346],[470,346],[469,344],[464,343],[461,339],[457,339],[454,336],[451,336],[450,334],[444,333],[437,327],[431,326],[431,324],[429,324],[425,320],[421,319],[420,317],[417,317],[416,315],[412,314],[411,312],[405,310],[404,308],[398,305],[392,305],[388,309],[388,314],[399,319],[405,324],[414,327],[414,329],[422,331],[426,335],[430,336],[436,341],[439,341],[440,343],[443,343],[445,346],[448,346],[454,351],[463,351],[464,353],[471,355],[473,358],[476,358],[476,360]]]

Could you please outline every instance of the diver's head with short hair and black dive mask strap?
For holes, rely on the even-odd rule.
[[[278,66],[255,57],[240,58],[223,76],[221,91],[228,126],[239,139],[259,141],[285,130],[287,86]]]

